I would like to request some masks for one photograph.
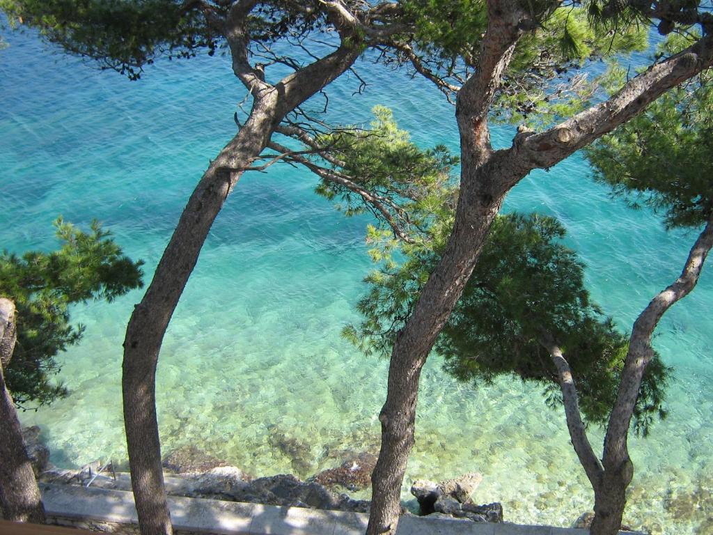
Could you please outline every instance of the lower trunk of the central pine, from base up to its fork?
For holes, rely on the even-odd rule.
[[[491,160],[497,161],[497,158]],[[496,173],[497,165],[476,170]],[[429,277],[414,311],[399,332],[391,352],[386,402],[381,409],[381,449],[371,476],[369,535],[394,533],[401,511],[401,482],[414,445],[414,423],[421,368],[446,325],[473,272],[478,255],[500,210],[505,191],[483,187],[491,180],[466,178],[458,200],[456,223],[436,270]]]

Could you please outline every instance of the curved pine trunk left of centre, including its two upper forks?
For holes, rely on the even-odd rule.
[[[188,200],[143,300],[135,306],[124,340],[123,406],[136,509],[143,535],[170,535],[155,408],[155,373],[163,336],[210,227],[242,172],[260,156],[284,116],[347,70],[359,50],[342,46],[283,78],[267,83],[247,61],[245,17],[255,2],[236,4],[227,19],[233,70],[253,96],[237,136],[205,171]]]

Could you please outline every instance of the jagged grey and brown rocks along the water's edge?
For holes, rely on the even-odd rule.
[[[94,486],[131,490],[128,472],[114,472],[111,463],[93,462],[81,469],[61,469],[48,463],[49,450],[39,441],[40,429],[23,430],[26,449],[39,481],[51,484]],[[368,513],[370,501],[352,499],[344,491],[371,485],[376,456],[354,454],[338,467],[324,470],[302,481],[292,474],[252,478],[238,467],[201,452],[195,447],[175,449],[163,461],[166,492],[172,496],[240,501],[253,504],[295,506]],[[471,496],[482,481],[481,474],[464,474],[446,481],[415,481],[411,487],[419,501],[421,516],[450,516],[476,522],[502,522],[499,503],[478,505]],[[404,509],[404,514],[411,514]]]

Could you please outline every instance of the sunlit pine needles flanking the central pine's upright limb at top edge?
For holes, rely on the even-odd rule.
[[[401,5],[414,24],[410,44],[422,63],[458,83],[468,68],[478,68],[488,29],[485,1],[405,0]],[[576,113],[597,88],[583,71],[586,63],[648,46],[647,24],[626,3],[590,0],[560,7],[528,0],[523,6],[534,24],[520,37],[503,76],[491,110],[498,121],[537,126]]]

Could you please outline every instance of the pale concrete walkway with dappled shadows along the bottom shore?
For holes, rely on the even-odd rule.
[[[137,524],[130,492],[44,485],[43,501],[47,516],[57,524],[86,527],[107,523],[124,524],[127,528]],[[169,505],[174,529],[220,535],[363,535],[369,519],[365,513],[179,496],[169,496]],[[398,535],[588,535],[588,532],[423,516],[403,516],[396,531]]]

